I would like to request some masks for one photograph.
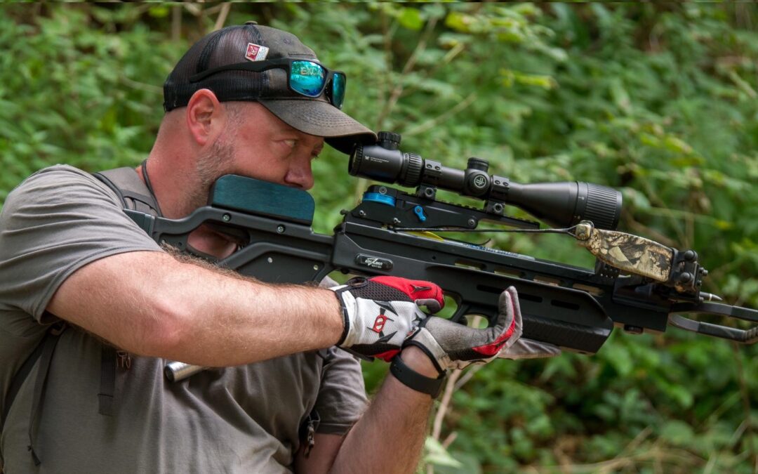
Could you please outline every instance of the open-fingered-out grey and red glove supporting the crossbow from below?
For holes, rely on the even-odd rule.
[[[406,340],[406,346],[420,347],[441,372],[463,369],[472,363],[488,363],[498,357],[553,356],[560,350],[551,344],[526,341],[519,344],[522,315],[515,287],[500,294],[499,313],[491,328],[475,329],[442,318],[427,318]]]

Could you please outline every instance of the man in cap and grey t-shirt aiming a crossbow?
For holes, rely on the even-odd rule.
[[[374,140],[340,111],[344,79],[290,33],[211,33],[164,84],[140,193],[180,218],[223,174],[309,189],[324,137],[343,152]],[[161,249],[119,193],[58,165],[0,215],[6,472],[412,472],[446,369],[557,352],[518,339],[515,290],[476,330],[419,311],[443,305],[428,282],[262,284]],[[205,227],[188,243],[210,260],[237,249]],[[335,345],[393,360],[368,408],[359,364]],[[174,383],[166,360],[223,369]]]

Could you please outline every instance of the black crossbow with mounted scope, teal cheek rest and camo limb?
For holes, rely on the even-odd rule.
[[[315,202],[309,193],[236,175],[219,178],[208,205],[186,218],[125,212],[158,243],[179,250],[187,249],[189,234],[201,224],[212,226],[240,243],[218,265],[261,281],[321,281],[334,271],[434,281],[457,303],[453,320],[464,324],[468,315],[492,321],[500,293],[513,285],[524,316],[523,337],[564,350],[596,353],[615,326],[642,333],[666,331],[671,324],[744,344],[758,341],[756,326],[741,329],[681,315],[758,322],[755,309],[718,303],[713,300],[719,297],[701,291],[707,272],[694,250],[615,231],[618,191],[580,182],[515,184],[487,174],[487,168],[482,159],[469,159],[465,170],[447,168],[400,152],[399,135],[381,132],[376,145],[356,146],[350,174],[415,187],[415,193],[371,185],[358,206],[343,211],[333,235],[312,230]],[[443,202],[438,188],[483,199],[484,206]],[[478,225],[485,221],[511,231],[546,231],[535,221],[505,215],[506,206],[561,228],[597,257],[595,268],[437,235],[481,231]]]

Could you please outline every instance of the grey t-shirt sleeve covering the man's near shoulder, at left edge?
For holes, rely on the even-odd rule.
[[[42,322],[58,287],[78,268],[117,253],[161,251],[91,174],[66,165],[24,180],[0,213],[0,309]]]

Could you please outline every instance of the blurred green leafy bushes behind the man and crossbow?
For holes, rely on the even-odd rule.
[[[697,249],[706,290],[758,308],[751,3],[3,5],[0,202],[54,163],[139,163],[172,65],[249,19],[346,71],[346,111],[402,133],[402,149],[449,166],[480,156],[518,182],[617,187],[622,230]],[[315,173],[315,228],[329,232],[366,183],[334,151]],[[342,186],[318,187],[327,179]],[[559,237],[493,243],[592,265]],[[490,364],[441,404],[420,469],[758,472],[756,355],[671,330],[614,334],[592,357]],[[366,366],[369,388],[385,369]]]

